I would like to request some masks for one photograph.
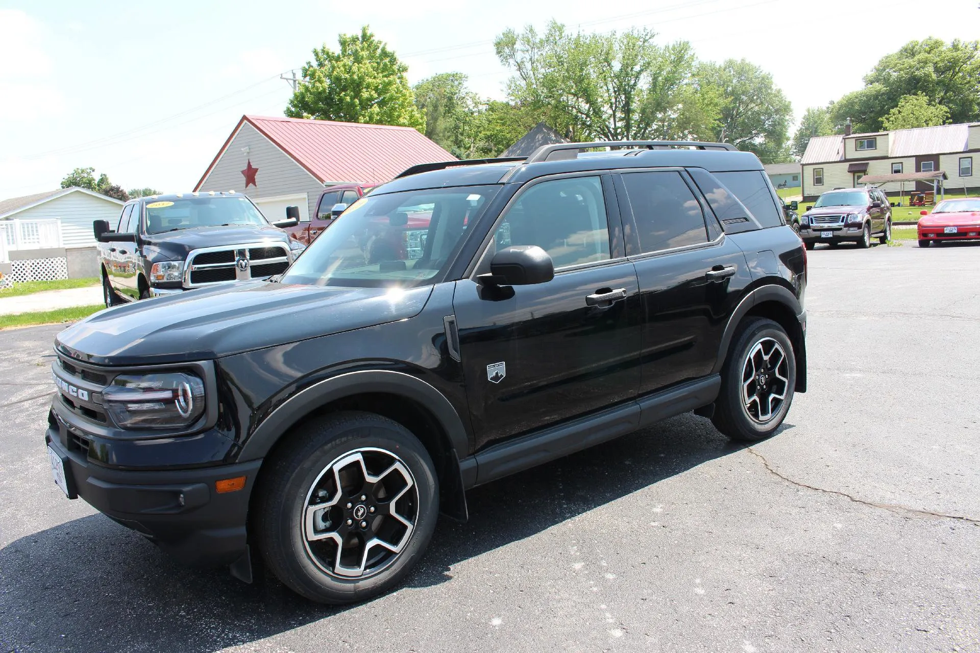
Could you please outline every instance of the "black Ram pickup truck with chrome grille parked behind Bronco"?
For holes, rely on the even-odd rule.
[[[296,224],[270,224],[240,193],[131,200],[115,231],[106,220],[92,224],[106,305],[280,274],[306,249],[282,229]]]

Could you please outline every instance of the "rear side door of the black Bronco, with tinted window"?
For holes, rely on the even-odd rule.
[[[752,280],[746,258],[686,172],[622,171],[616,190],[640,286],[640,394],[705,377]]]

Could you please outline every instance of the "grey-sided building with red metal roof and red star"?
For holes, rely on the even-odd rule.
[[[412,127],[243,116],[195,191],[244,192],[270,220],[309,220],[324,186],[379,184],[417,163],[456,158]]]

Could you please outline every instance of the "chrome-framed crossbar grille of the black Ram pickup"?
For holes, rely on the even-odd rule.
[[[264,279],[289,267],[285,243],[245,243],[194,250],[187,255],[184,287]],[[243,269],[244,268],[244,269]]]

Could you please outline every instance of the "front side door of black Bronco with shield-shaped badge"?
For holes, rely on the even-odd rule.
[[[476,272],[489,271],[497,247],[537,245],[552,257],[555,278],[504,288],[457,282],[477,448],[636,396],[636,272],[609,208],[600,176],[532,185],[498,220]]]

